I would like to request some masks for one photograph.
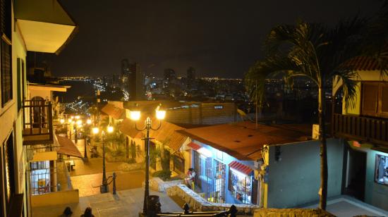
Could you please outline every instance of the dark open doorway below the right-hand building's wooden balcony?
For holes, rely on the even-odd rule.
[[[365,199],[366,153],[356,149],[348,149],[345,194]]]

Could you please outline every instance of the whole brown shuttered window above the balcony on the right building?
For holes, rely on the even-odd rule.
[[[361,113],[388,118],[388,82],[363,82],[362,87]]]

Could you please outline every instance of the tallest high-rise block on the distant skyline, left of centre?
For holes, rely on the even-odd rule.
[[[139,63],[130,63],[126,58],[121,61],[121,81],[131,100],[143,98],[144,79]]]

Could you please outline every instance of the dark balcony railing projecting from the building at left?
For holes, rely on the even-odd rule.
[[[23,101],[23,144],[51,144],[54,141],[50,101]]]

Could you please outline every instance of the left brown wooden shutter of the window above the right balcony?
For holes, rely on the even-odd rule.
[[[377,83],[363,84],[362,111],[365,116],[377,116],[377,99],[379,86]]]

